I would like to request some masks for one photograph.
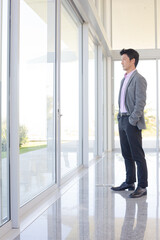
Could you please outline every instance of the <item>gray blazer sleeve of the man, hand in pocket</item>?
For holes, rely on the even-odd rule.
[[[134,110],[129,116],[131,125],[136,126],[137,122],[143,115],[144,107],[146,105],[146,89],[147,82],[141,75],[136,79],[135,83],[135,105]]]

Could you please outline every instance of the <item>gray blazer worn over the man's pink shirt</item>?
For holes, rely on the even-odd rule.
[[[120,96],[121,89],[124,82],[124,78],[121,81],[120,91],[119,91],[119,108],[120,108]],[[139,129],[145,129],[145,119],[144,119],[144,107],[146,105],[146,89],[147,82],[145,78],[140,75],[137,70],[131,75],[125,95],[125,106],[127,112],[129,113],[129,123],[133,126],[137,126]],[[118,114],[118,119],[120,114]]]

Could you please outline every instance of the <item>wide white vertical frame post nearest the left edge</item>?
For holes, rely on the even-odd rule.
[[[10,35],[10,186],[12,227],[19,227],[19,14],[20,1],[11,1]]]

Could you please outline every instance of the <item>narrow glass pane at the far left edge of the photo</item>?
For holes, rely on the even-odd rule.
[[[0,226],[10,218],[9,213],[9,82],[8,29],[9,3],[2,1],[0,35]]]

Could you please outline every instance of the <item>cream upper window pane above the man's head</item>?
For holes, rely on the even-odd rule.
[[[112,1],[112,46],[155,48],[154,1]]]

